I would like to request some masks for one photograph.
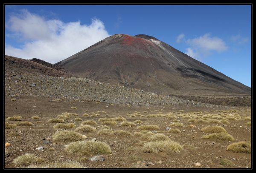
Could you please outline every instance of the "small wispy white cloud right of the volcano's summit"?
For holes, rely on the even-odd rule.
[[[177,38],[177,43],[180,43],[178,42],[179,38],[183,39],[184,37],[184,34],[180,34]],[[185,54],[195,59],[206,57],[214,51],[220,53],[227,50],[226,43],[222,39],[218,37],[211,37],[210,34],[204,34],[200,37],[187,39],[184,40],[184,42],[189,45],[189,48],[186,48]]]

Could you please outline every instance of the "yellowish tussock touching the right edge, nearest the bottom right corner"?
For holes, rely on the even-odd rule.
[[[251,153],[251,145],[245,141],[235,142],[227,146],[227,150],[234,153]]]

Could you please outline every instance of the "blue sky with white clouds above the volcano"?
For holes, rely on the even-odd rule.
[[[6,5],[5,24],[11,56],[56,63],[113,34],[147,34],[251,86],[249,5]]]

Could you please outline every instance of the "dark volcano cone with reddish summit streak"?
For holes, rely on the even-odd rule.
[[[250,94],[249,87],[143,34],[115,34],[56,65],[156,94]]]

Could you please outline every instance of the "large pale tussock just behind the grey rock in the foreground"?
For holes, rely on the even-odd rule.
[[[109,154],[112,153],[108,144],[99,141],[80,141],[72,142],[64,149],[68,153],[76,153],[79,155],[90,154]]]

